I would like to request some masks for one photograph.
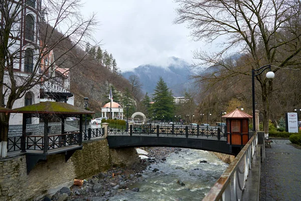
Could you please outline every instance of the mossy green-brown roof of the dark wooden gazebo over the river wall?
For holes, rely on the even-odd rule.
[[[38,104],[14,109],[18,113],[38,114],[95,114],[62,102],[40,102]]]

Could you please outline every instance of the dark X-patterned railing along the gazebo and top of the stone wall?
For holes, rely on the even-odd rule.
[[[104,135],[104,128],[87,129],[86,140],[93,140]],[[82,139],[85,137],[85,130],[82,132]],[[65,132],[64,134],[48,136],[48,146],[44,148],[44,135],[27,135],[25,137],[24,149],[29,150],[50,150],[60,147],[79,144],[79,131]],[[8,152],[22,150],[22,136],[8,138]]]

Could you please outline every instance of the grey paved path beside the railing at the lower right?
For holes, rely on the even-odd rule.
[[[301,200],[301,149],[274,140],[261,163],[259,200]]]

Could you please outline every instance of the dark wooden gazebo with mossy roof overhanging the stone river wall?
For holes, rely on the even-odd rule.
[[[21,152],[26,152],[28,172],[39,160],[46,160],[48,155],[62,153],[67,161],[76,150],[82,149],[83,115],[94,114],[61,102],[40,102],[14,110],[23,113]],[[31,117],[44,122],[44,135],[26,135],[26,119]],[[79,117],[79,131],[65,132],[67,117]],[[58,119],[61,120],[61,134],[48,136],[49,120]]]

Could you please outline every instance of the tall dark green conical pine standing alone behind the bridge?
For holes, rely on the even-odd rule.
[[[174,116],[174,97],[166,82],[160,77],[154,93],[152,110],[157,120],[172,120]]]

